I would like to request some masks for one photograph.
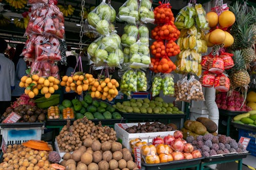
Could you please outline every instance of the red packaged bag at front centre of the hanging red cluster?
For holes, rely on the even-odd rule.
[[[214,74],[221,74],[224,71],[224,62],[222,58],[215,57],[209,62],[208,71]]]

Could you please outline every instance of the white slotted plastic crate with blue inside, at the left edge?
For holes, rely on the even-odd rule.
[[[31,139],[41,140],[42,133],[44,133],[42,127],[1,129],[6,144],[19,144]]]

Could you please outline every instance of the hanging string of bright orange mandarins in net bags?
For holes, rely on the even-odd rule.
[[[176,69],[176,65],[169,59],[180,53],[180,47],[174,41],[178,39],[180,31],[174,25],[174,15],[170,4],[161,4],[154,9],[155,22],[158,24],[151,34],[156,41],[151,45],[151,70],[169,73]]]

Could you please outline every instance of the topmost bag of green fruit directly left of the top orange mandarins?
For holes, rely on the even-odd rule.
[[[140,0],[139,18],[143,23],[154,23],[155,15],[151,0]]]

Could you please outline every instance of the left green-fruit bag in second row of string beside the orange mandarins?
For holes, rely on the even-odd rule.
[[[130,47],[132,44],[137,42],[139,35],[139,29],[134,25],[126,25],[123,28],[123,35],[121,36],[122,45],[125,47]]]

